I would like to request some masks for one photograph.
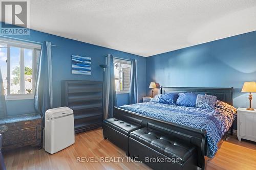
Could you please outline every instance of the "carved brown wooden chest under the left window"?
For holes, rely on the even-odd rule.
[[[41,116],[38,113],[8,116],[0,119],[3,150],[25,145],[40,146]]]

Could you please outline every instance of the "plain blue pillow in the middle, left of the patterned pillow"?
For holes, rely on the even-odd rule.
[[[187,106],[187,107],[196,107],[197,102],[196,93],[179,93],[179,98],[177,99],[177,105]]]

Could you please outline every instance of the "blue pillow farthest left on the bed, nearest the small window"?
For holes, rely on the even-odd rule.
[[[178,96],[179,95],[177,93],[157,94],[153,99],[151,99],[151,102],[176,105]]]

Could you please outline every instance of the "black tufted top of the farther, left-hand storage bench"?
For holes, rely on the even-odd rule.
[[[124,122],[123,120],[119,120],[116,118],[108,118],[103,120],[103,124],[108,125],[109,127],[128,135],[130,132],[139,129],[139,125],[130,124],[127,122]]]

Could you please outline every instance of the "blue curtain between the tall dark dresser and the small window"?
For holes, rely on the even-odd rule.
[[[105,69],[104,81],[104,118],[113,117],[114,106],[117,106],[116,100],[116,86],[115,86],[115,72],[114,72],[114,59],[111,54],[106,57],[106,64],[108,67]]]

